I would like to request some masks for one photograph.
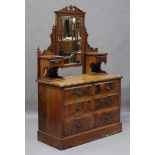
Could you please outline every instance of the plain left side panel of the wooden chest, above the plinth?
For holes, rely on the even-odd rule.
[[[61,89],[57,87],[42,84],[38,86],[39,130],[58,137],[62,136],[61,93]]]

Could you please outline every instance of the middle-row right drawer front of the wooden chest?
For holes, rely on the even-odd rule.
[[[94,99],[95,110],[110,108],[119,105],[119,95]]]

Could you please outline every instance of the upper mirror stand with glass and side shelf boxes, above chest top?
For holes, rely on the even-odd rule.
[[[55,26],[50,35],[51,44],[37,49],[38,79],[62,78],[58,68],[82,66],[82,73],[100,72],[101,63],[107,62],[108,53],[98,53],[87,42],[85,12],[75,6],[55,11]],[[65,54],[64,54],[65,53]]]

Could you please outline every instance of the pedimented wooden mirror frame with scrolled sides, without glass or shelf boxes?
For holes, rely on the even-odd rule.
[[[82,60],[81,64],[64,64],[65,67],[79,67],[82,66],[82,73],[86,72],[86,54],[89,52],[97,53],[98,48],[93,48],[88,44],[88,33],[85,28],[85,14],[86,12],[80,10],[79,8],[75,6],[67,6],[59,11],[55,11],[55,26],[52,28],[52,33],[50,35],[51,37],[51,44],[43,52],[43,54],[54,54],[59,55],[59,42],[58,42],[58,27],[59,27],[59,18],[61,16],[74,16],[74,17],[82,17],[83,18],[83,26],[82,26],[82,45],[81,45],[81,55]]]

